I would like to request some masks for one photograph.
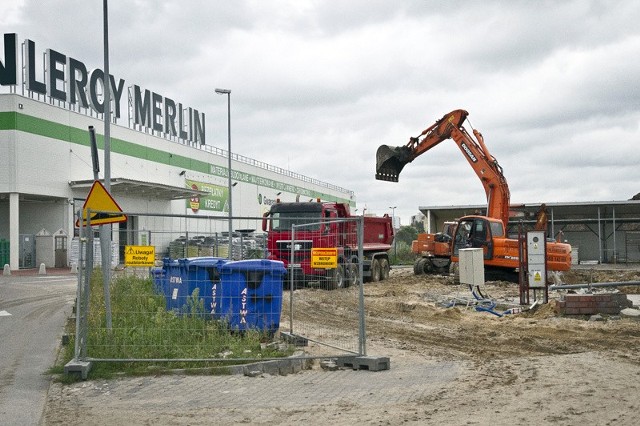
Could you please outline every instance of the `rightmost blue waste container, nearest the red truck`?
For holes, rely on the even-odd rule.
[[[284,263],[278,260],[225,263],[214,302],[216,317],[227,321],[232,330],[275,333],[280,327],[285,273]]]

